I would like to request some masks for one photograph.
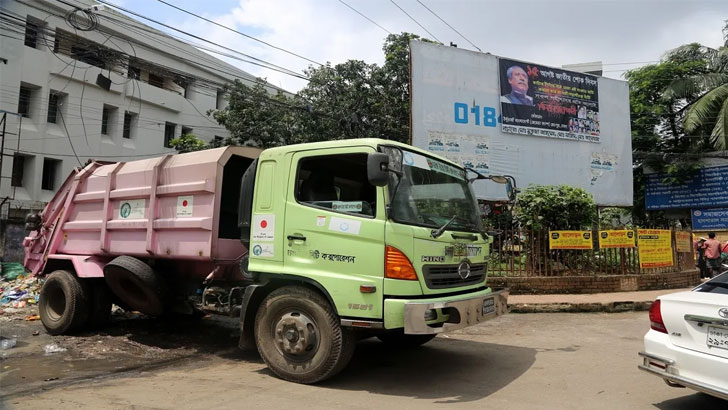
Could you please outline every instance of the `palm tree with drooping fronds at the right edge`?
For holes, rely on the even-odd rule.
[[[705,136],[708,147],[728,150],[728,24],[723,46],[714,49],[687,44],[668,53],[670,57],[705,61],[705,71],[673,81],[664,93],[667,100],[684,99],[683,127],[688,135]]]

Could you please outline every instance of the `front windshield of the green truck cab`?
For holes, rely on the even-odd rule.
[[[390,173],[390,217],[395,222],[480,232],[480,212],[465,171],[415,152],[382,147],[390,164],[402,164],[401,176]],[[392,167],[397,169],[398,166]]]

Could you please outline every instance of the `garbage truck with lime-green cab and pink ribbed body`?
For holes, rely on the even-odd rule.
[[[240,318],[282,379],[316,383],[357,340],[399,347],[506,313],[486,284],[482,175],[418,148],[355,139],[223,147],[76,169],[26,218],[50,334],[110,321],[112,303],[163,320]]]

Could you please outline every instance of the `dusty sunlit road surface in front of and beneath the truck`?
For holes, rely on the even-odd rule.
[[[728,403],[637,370],[646,312],[510,314],[397,351],[361,341],[315,386],[214,342],[181,362],[6,396],[9,409],[687,409]],[[151,335],[153,336],[153,334]],[[215,351],[219,348],[219,351]],[[230,346],[227,346],[230,347]],[[40,376],[42,377],[42,375]]]

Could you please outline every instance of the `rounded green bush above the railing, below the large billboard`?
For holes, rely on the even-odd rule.
[[[516,220],[534,231],[588,228],[596,215],[594,198],[581,188],[536,185],[518,194]]]

